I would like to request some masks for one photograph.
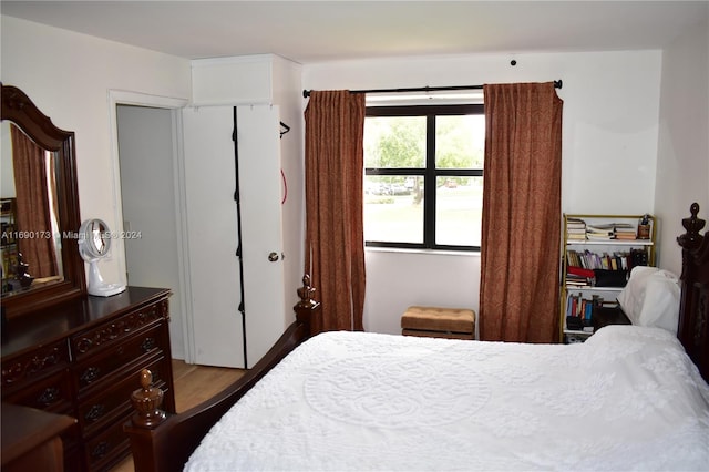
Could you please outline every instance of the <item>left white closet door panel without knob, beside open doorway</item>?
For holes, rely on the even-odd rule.
[[[183,111],[195,362],[245,367],[233,106]]]

